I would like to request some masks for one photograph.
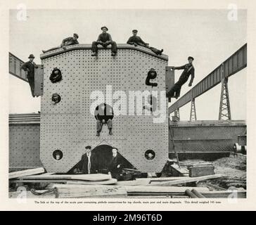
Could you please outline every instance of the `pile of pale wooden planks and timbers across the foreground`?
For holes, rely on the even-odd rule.
[[[179,170],[186,172],[185,170]],[[10,183],[47,184],[44,190],[30,190],[27,198],[229,198],[233,191],[210,191],[196,187],[201,181],[223,179],[222,174],[207,176],[171,176],[117,181],[109,174],[54,174],[44,168],[9,174]],[[17,198],[17,191],[9,198]],[[245,190],[236,191],[236,198],[246,198]]]

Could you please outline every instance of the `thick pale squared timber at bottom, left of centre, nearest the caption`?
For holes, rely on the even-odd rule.
[[[56,198],[125,198],[124,186],[56,184]]]

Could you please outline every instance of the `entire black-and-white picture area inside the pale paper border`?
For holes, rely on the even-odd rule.
[[[6,198],[248,198],[247,8],[15,6]]]

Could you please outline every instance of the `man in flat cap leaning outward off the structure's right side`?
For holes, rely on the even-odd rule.
[[[179,98],[179,95],[181,93],[181,86],[185,84],[188,80],[188,77],[191,75],[191,80],[188,84],[188,86],[192,86],[193,79],[195,77],[195,68],[193,67],[193,60],[194,58],[192,56],[188,56],[188,63],[186,65],[182,65],[180,67],[173,67],[173,70],[184,70],[179,77],[178,82],[174,84],[172,89],[170,89],[167,93],[167,97],[174,97]]]

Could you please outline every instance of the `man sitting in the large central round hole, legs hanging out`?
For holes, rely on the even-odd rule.
[[[96,128],[97,128],[97,134],[96,136],[100,136],[101,129],[103,124],[108,124],[109,134],[113,134],[112,128],[113,128],[113,117],[114,112],[113,108],[110,105],[107,105],[106,103],[103,103],[101,105],[98,105],[95,110],[95,118],[97,120],[96,122]]]

